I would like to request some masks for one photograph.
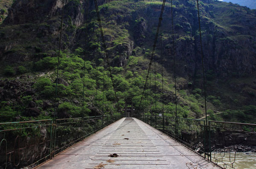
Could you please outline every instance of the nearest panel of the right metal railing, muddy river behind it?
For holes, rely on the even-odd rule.
[[[209,121],[208,127],[210,160],[223,168],[239,168],[237,152],[256,152],[256,124]]]

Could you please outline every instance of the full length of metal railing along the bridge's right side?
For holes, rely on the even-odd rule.
[[[238,169],[237,152],[256,153],[256,124],[137,115],[221,168]],[[252,166],[253,168],[255,166]]]

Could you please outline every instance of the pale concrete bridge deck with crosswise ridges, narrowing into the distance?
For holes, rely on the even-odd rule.
[[[118,157],[109,157],[116,153]],[[136,118],[122,118],[38,169],[220,169]]]

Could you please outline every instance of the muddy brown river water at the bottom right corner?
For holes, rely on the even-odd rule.
[[[223,153],[215,154],[215,158],[221,161],[221,156],[224,156]],[[212,152],[212,157],[214,157],[214,153]],[[225,153],[223,157],[223,162],[227,163],[227,165],[232,166],[230,163],[234,161],[235,152]],[[215,159],[212,158],[214,162]],[[218,165],[223,167],[223,163],[218,161]],[[236,152],[236,161],[233,163],[233,168],[235,169],[256,169],[256,152]],[[231,167],[227,166],[227,169],[232,169]]]

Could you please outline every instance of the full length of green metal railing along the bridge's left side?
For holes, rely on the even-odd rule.
[[[122,118],[102,115],[0,123],[0,169],[34,167]]]

